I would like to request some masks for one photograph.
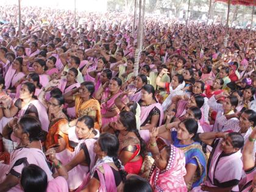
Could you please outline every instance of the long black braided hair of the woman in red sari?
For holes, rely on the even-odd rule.
[[[137,129],[136,117],[133,112],[120,112],[119,119],[128,132],[133,132],[140,140],[140,155],[145,157],[147,154],[146,143],[140,137],[140,133]]]

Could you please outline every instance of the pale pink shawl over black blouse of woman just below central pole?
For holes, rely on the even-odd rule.
[[[156,104],[151,104],[149,106],[141,106],[141,113],[140,113],[140,123],[143,124],[144,121],[146,121],[146,119],[149,116],[149,113],[151,112],[151,110],[153,110],[154,107],[157,107],[160,110],[160,118],[159,118],[159,126],[161,126],[162,121],[163,121],[163,108],[161,106],[160,103],[156,103]]]

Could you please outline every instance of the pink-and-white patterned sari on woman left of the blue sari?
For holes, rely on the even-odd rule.
[[[154,163],[149,174],[149,183],[155,192],[187,192],[183,178],[185,174],[185,155],[171,145],[171,154],[165,170],[161,171]]]

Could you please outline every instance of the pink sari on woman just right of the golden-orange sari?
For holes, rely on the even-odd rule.
[[[107,112],[111,112],[113,110],[117,110],[117,107],[115,105],[115,99],[118,98],[118,96],[122,93],[121,90],[118,91],[115,95],[113,95],[111,98],[108,98],[110,91],[107,89],[103,92],[102,98],[101,98],[101,115],[105,115]],[[104,126],[107,123],[116,121],[117,116],[113,116],[112,118],[103,118],[102,117],[102,126]]]

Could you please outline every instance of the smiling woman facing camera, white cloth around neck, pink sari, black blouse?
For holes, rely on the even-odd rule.
[[[66,155],[63,152],[57,154],[57,157],[65,162],[70,191],[76,190],[82,184],[84,177],[94,166],[95,153],[93,152],[93,146],[99,137],[99,131],[94,129],[93,126],[93,119],[84,115],[77,119],[76,126],[65,131],[62,129],[63,133],[68,134],[69,143],[70,141],[76,143],[74,152],[71,154]],[[57,175],[55,174],[55,176]]]

